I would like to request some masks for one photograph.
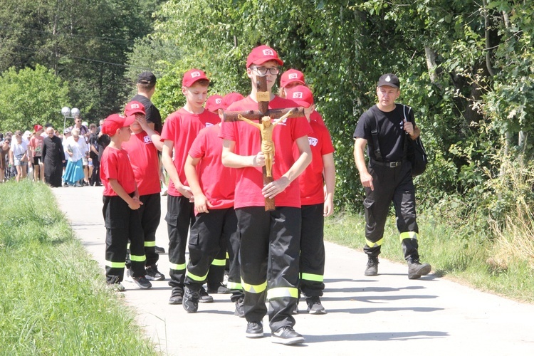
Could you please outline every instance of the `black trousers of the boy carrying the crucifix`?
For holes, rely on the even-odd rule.
[[[295,325],[292,311],[298,300],[300,208],[263,206],[236,209],[241,238],[241,284],[247,321],[267,313],[274,332]]]

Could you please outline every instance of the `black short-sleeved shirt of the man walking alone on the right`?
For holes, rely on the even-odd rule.
[[[374,115],[367,115],[367,112],[364,112],[360,117],[353,137],[367,140],[367,154],[370,157],[375,157],[371,131],[377,127],[375,123],[376,117],[376,122],[378,122],[378,143],[382,159],[385,162],[402,161],[404,156],[404,137],[407,135],[404,132],[403,108],[404,105],[395,104],[394,110],[384,112],[377,105],[373,105],[370,110]],[[407,120],[414,122],[414,110],[410,110],[408,113],[408,109],[409,107],[407,106],[405,109]]]

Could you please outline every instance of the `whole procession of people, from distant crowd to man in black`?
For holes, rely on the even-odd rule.
[[[300,298],[308,313],[327,313],[321,302],[323,226],[333,214],[334,147],[302,72],[281,73],[280,92],[272,93],[281,66],[273,48],[253,48],[246,58],[251,80],[246,97],[208,97],[206,73],[188,70],[182,79],[186,103],[164,121],[150,100],[157,78],[143,72],[137,95],[124,112],[101,120],[98,127],[87,127],[77,117],[63,133],[46,127],[43,134],[36,125],[24,134],[27,143],[21,132],[4,135],[2,152],[9,152],[9,159],[2,167],[15,167],[12,174],[18,180],[31,164],[33,179],[53,187],[103,184],[105,274],[110,288],[118,291],[125,290],[125,278],[139,288],[166,280],[157,269],[155,246],[164,169],[169,177],[168,190],[163,185],[168,194],[169,304],[196,313],[199,303],[213,301],[210,293],[229,293],[234,314],[246,319],[246,337],[263,337],[262,320],[268,315],[273,342],[301,343],[303,335],[293,329]],[[262,81],[266,88],[258,84]],[[397,76],[382,75],[378,103],[360,117],[355,130],[354,154],[366,191],[365,276],[378,274],[393,202],[408,277],[414,279],[431,271],[428,263],[419,262],[405,143],[419,137],[420,130],[413,111],[408,110],[409,120],[402,115],[404,105],[395,103],[399,95]],[[298,115],[292,115],[295,108],[301,108]]]

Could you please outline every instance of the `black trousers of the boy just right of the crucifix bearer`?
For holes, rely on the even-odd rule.
[[[320,297],[325,289],[324,205],[303,205],[301,209],[299,288],[306,297]]]

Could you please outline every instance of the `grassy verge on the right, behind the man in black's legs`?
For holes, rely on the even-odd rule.
[[[515,242],[518,235],[523,235],[521,241],[530,241],[531,248],[533,221],[527,223],[523,219],[523,226],[518,229],[513,225],[513,221],[518,219],[512,219],[508,226],[499,231],[500,236],[496,236],[496,231],[481,229],[481,219],[480,216],[466,220],[452,214],[420,214],[419,253],[422,261],[431,263],[432,271],[437,276],[447,276],[506,298],[534,303],[533,256],[528,253],[513,254],[501,247],[508,241],[508,247],[515,244],[511,250],[527,249]],[[524,224],[528,224],[530,230]],[[365,244],[364,228],[364,216],[338,214],[325,221],[325,239],[362,251]],[[513,229],[519,231],[513,234]],[[393,217],[386,224],[381,257],[404,262]],[[364,269],[365,266],[361,266],[361,271],[356,273],[362,273],[363,276]]]

